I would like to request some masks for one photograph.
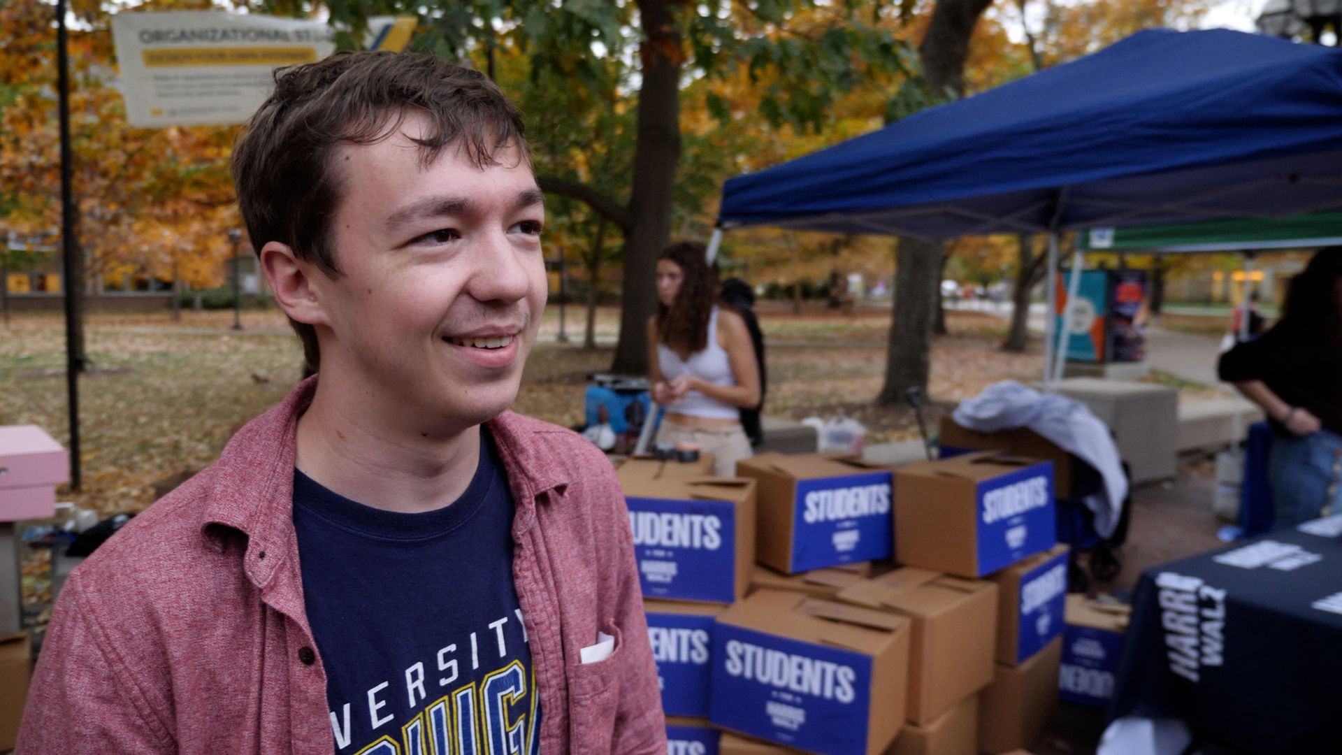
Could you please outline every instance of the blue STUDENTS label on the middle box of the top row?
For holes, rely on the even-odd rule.
[[[888,472],[798,480],[792,571],[888,559],[894,552]]]

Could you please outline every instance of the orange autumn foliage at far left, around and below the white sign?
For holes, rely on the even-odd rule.
[[[236,129],[130,128],[111,86],[110,15],[90,3],[74,12],[82,28],[70,34],[70,112],[83,271],[217,285],[232,254],[225,232],[238,226],[228,175]],[[60,224],[51,13],[39,0],[0,5],[0,222],[24,234]]]

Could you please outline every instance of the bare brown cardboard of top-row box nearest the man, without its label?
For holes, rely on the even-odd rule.
[[[667,501],[727,501],[734,506],[734,547],[735,566],[730,579],[733,582],[731,599],[745,596],[750,587],[750,568],[756,560],[756,481],[735,477],[703,477],[691,476],[684,469],[678,469],[676,462],[658,462],[647,459],[631,459],[619,470],[620,488],[625,498],[660,498]],[[639,540],[635,537],[635,547]],[[640,563],[640,576],[641,576]],[[722,579],[727,579],[722,575]],[[644,594],[650,594],[644,584]],[[688,599],[678,594],[652,594],[650,596],[663,599]],[[727,603],[729,599],[713,601]]]

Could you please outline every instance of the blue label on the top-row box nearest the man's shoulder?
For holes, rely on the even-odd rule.
[[[625,501],[644,596],[737,599],[737,509],[731,501]]]

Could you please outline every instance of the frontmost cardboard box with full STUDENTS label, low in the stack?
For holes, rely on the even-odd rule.
[[[788,747],[879,755],[899,734],[909,619],[761,590],[713,629],[714,724]]]

